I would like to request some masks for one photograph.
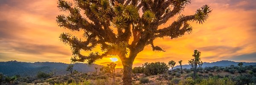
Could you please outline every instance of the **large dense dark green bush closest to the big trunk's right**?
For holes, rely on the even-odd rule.
[[[152,63],[145,63],[145,71],[144,73],[149,75],[157,75],[163,74],[163,72],[168,71],[169,67],[164,62],[152,62]]]

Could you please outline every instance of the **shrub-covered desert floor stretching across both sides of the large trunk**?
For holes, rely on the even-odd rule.
[[[201,63],[200,51],[195,50],[191,63]],[[199,62],[200,61],[200,62]],[[175,61],[171,61],[172,63]],[[181,66],[182,60],[179,61]],[[177,65],[177,66],[179,66]],[[200,65],[200,64],[199,64]],[[71,65],[67,68],[70,69]],[[2,85],[123,85],[123,70],[115,72],[116,64],[100,68],[99,72],[73,72],[54,76],[54,71],[39,71],[36,77],[13,77],[0,74]],[[256,85],[256,65],[213,66],[202,68],[193,64],[192,68],[169,69],[165,62],[145,62],[141,67],[132,69],[132,85]],[[71,66],[73,68],[73,66]],[[95,68],[97,69],[97,68]],[[70,71],[70,70],[67,70]]]

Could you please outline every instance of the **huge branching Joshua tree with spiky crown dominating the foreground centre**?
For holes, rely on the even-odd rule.
[[[190,0],[58,0],[58,8],[69,15],[58,15],[56,21],[60,27],[84,32],[81,39],[69,33],[60,35],[61,41],[72,48],[73,62],[91,64],[107,55],[117,55],[124,68],[123,83],[131,85],[134,59],[146,45],[151,45],[153,51],[163,51],[154,45],[155,39],[181,37],[192,31],[189,21],[204,23],[209,17],[211,9],[204,5],[195,14],[181,15],[167,27],[159,28],[189,3]],[[93,51],[97,45],[104,53]],[[81,51],[93,52],[86,56]]]

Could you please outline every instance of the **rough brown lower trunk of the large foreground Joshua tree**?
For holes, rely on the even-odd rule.
[[[122,65],[124,67],[123,85],[131,85],[132,62],[122,62]]]

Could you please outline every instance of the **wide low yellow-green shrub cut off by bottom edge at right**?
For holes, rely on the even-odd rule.
[[[228,78],[210,77],[207,79],[203,79],[200,83],[195,85],[236,85],[236,82]]]

